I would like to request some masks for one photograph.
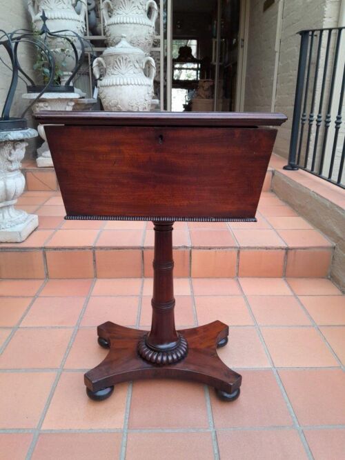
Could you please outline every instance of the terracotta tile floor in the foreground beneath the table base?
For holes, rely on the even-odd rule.
[[[151,289],[148,278],[0,281],[1,460],[344,459],[345,302],[331,281],[177,279],[179,328],[230,325],[219,356],[242,374],[241,397],[163,380],[90,401],[83,372],[106,355],[95,326],[147,328]]]

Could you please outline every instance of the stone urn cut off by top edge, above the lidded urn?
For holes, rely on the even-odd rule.
[[[105,0],[102,4],[108,46],[115,46],[125,34],[127,41],[148,54],[152,48],[157,19],[154,0]]]

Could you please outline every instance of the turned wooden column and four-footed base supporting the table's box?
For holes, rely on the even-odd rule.
[[[214,386],[224,401],[239,397],[242,377],[229,369],[216,348],[228,342],[221,321],[175,329],[172,270],[172,221],[155,222],[152,324],[150,332],[107,323],[97,328],[98,343],[110,348],[104,361],[85,374],[86,392],[101,401],[115,383],[136,379],[188,379]]]

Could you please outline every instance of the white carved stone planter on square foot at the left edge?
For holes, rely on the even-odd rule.
[[[0,242],[20,243],[39,225],[37,215],[14,208],[25,188],[21,160],[28,143],[37,131],[0,131]]]

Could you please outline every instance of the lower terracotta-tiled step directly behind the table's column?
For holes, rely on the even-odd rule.
[[[0,245],[0,278],[152,277],[154,231],[140,221],[64,221],[59,192],[28,191],[39,215],[23,243]],[[327,277],[333,243],[263,192],[257,223],[175,223],[176,277]]]

